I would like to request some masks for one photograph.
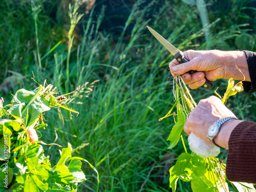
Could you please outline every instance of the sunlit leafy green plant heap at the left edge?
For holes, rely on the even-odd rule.
[[[59,151],[60,158],[53,166],[41,145],[46,143],[33,139],[35,130],[39,132],[47,126],[44,122],[46,111],[58,108],[59,112],[65,109],[78,114],[67,107],[71,101],[66,97],[68,94],[57,94],[56,87],[52,84],[46,86],[45,81],[44,86],[40,85],[33,91],[18,90],[11,104],[3,106],[1,99],[0,191],[77,191],[78,183],[86,180],[81,162],[89,162],[81,157],[72,157],[70,143]],[[98,175],[94,166],[89,165]],[[5,181],[6,177],[8,181]],[[99,185],[99,176],[97,180]]]

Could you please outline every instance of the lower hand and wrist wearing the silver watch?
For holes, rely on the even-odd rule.
[[[207,138],[209,126],[225,117],[236,117],[218,97],[211,96],[202,99],[196,108],[190,113],[184,125],[184,131],[189,135],[191,132],[204,141],[211,143]],[[228,120],[221,126],[219,135],[215,138],[215,142],[224,148],[228,148],[228,140],[234,127],[239,124],[240,120]]]

